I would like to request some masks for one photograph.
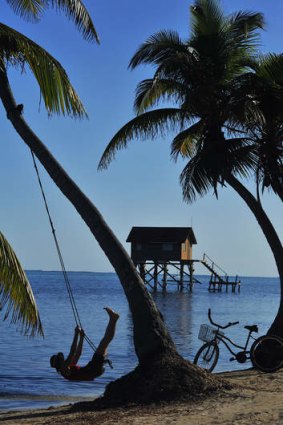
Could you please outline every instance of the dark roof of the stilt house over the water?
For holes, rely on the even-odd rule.
[[[197,243],[191,227],[132,227],[127,242],[182,243],[187,238],[191,244]]]

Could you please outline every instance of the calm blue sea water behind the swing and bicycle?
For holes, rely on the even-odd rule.
[[[17,326],[0,321],[0,409],[41,408],[93,398],[103,393],[109,381],[135,367],[137,359],[132,341],[131,315],[115,274],[69,273],[83,327],[96,345],[107,324],[103,307],[109,305],[120,313],[117,334],[109,349],[114,368],[107,367],[103,376],[86,383],[68,382],[49,367],[52,354],[58,351],[67,353],[75,326],[62,274],[30,271],[28,277],[38,303],[45,337],[27,338],[20,334]],[[172,286],[167,293],[153,294],[178,350],[185,358],[192,360],[201,345],[199,326],[207,323],[209,307],[217,322],[224,324],[240,320],[240,325],[227,331],[238,343],[245,341],[244,325],[257,324],[259,334],[266,332],[279,305],[278,279],[242,278],[240,293],[209,293],[208,278],[198,278],[203,283],[196,284],[193,293],[187,290],[179,293]],[[91,355],[92,351],[86,344],[81,363],[87,362]],[[249,363],[231,363],[231,356],[224,349],[220,356],[217,371],[250,367]]]

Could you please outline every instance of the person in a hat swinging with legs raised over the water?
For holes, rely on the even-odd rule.
[[[107,348],[115,335],[116,322],[119,314],[109,307],[104,307],[108,313],[109,322],[104,337],[100,341],[91,361],[85,366],[77,363],[82,353],[84,331],[79,326],[75,328],[75,335],[70,353],[65,359],[63,353],[57,353],[50,357],[50,366],[55,368],[65,379],[69,381],[92,381],[104,372],[103,364],[106,362]]]

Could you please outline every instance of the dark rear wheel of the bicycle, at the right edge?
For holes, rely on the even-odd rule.
[[[263,335],[251,346],[250,356],[257,369],[275,372],[283,364],[283,340],[275,335]]]

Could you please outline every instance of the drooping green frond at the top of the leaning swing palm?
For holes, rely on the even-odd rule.
[[[0,66],[27,64],[35,76],[49,114],[82,118],[86,111],[62,65],[46,50],[23,34],[0,23]]]

